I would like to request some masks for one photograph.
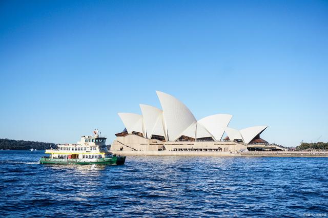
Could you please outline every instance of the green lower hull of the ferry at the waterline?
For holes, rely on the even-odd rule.
[[[107,165],[123,165],[125,163],[125,156],[113,156],[105,158],[97,158],[94,161],[87,159],[60,159],[60,158],[40,158],[40,164],[107,164]]]

